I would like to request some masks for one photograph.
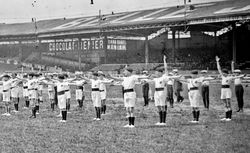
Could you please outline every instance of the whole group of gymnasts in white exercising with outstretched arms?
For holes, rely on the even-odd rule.
[[[128,124],[124,127],[135,127],[134,108],[136,106],[137,96],[135,86],[138,83],[143,84],[143,98],[145,106],[148,105],[149,84],[153,84],[155,88],[154,103],[159,113],[158,126],[166,125],[167,102],[170,107],[174,104],[174,93],[177,96],[177,102],[182,102],[184,98],[180,95],[182,84],[188,87],[188,99],[192,107],[193,119],[191,123],[198,123],[200,116],[201,99],[203,99],[204,107],[209,109],[209,83],[217,78],[210,77],[206,70],[198,72],[191,71],[189,77],[180,75],[178,70],[168,71],[167,59],[164,56],[164,68],[157,68],[154,74],[145,72],[143,75],[136,75],[133,69],[126,67],[123,77],[114,77],[104,74],[102,71],[93,72],[90,76],[76,74],[73,77],[68,74],[44,74],[44,73],[27,73],[12,75],[3,74],[0,76],[0,85],[2,85],[2,101],[5,105],[6,112],[2,115],[10,116],[10,107],[14,105],[14,111],[18,112],[18,104],[20,95],[25,99],[25,109],[31,110],[31,118],[36,118],[39,113],[39,105],[43,103],[44,86],[47,86],[47,95],[51,104],[51,110],[54,111],[55,106],[60,109],[59,116],[62,117],[60,122],[66,122],[67,113],[70,110],[71,87],[75,87],[75,100],[78,102],[78,107],[82,109],[84,106],[84,86],[91,85],[91,101],[95,108],[95,121],[100,121],[102,114],[106,113],[107,89],[106,84],[120,82],[122,85],[122,93],[124,106],[127,111]],[[221,100],[225,103],[225,118],[222,120],[230,121],[232,119],[231,98],[232,91],[230,84],[234,81],[235,92],[238,101],[239,111],[243,111],[243,94],[242,79],[245,75],[241,74],[240,70],[232,70],[233,75],[229,74],[227,69],[221,69],[219,57],[216,57],[217,68],[221,78]],[[200,74],[201,75],[200,75]],[[174,87],[177,82],[177,88]],[[201,87],[201,92],[200,92]],[[22,89],[21,89],[22,88]],[[175,92],[174,92],[175,90]],[[145,92],[144,92],[145,91]],[[22,92],[22,93],[21,93]]]

